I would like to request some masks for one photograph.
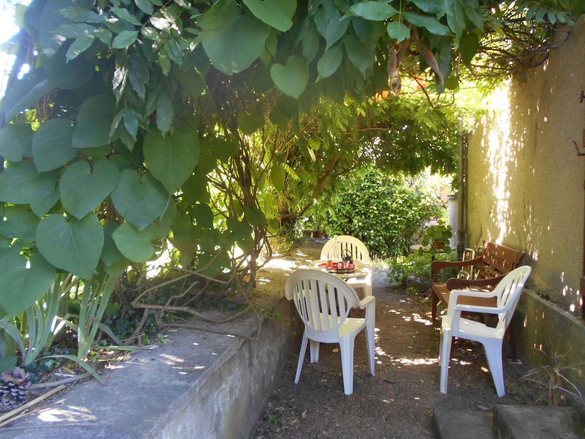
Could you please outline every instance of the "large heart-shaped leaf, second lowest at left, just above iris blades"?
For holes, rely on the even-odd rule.
[[[85,218],[44,217],[37,226],[39,252],[57,268],[91,279],[104,245],[104,231],[94,214]]]

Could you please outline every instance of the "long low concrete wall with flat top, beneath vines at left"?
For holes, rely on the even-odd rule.
[[[277,320],[251,314],[210,332],[168,332],[166,344],[113,362],[104,386],[91,380],[73,387],[50,402],[56,405],[1,428],[0,439],[249,437],[300,343],[285,279],[318,259],[321,247],[308,243],[259,272],[252,300],[276,307]]]

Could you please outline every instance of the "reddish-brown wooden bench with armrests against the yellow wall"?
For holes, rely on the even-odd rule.
[[[524,252],[512,249],[505,245],[495,244],[490,241],[483,242],[483,255],[479,258],[451,262],[446,260],[433,260],[431,262],[432,293],[431,293],[431,317],[433,324],[436,321],[437,306],[439,301],[447,307],[451,290],[473,289],[491,291],[501,279],[516,267],[518,267]],[[464,267],[479,265],[477,279],[449,279],[447,282],[439,282],[438,275],[442,269],[456,267],[463,270]],[[495,306],[494,297],[460,297],[457,303],[467,305]],[[508,326],[508,339],[510,342],[510,356],[515,359],[516,349],[514,342],[513,325]]]

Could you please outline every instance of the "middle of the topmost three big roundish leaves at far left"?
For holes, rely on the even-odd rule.
[[[67,118],[44,122],[33,135],[32,152],[39,172],[52,171],[71,160],[78,150],[71,146],[73,126]]]

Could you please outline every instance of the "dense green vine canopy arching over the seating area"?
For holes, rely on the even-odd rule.
[[[442,97],[464,79],[520,77],[581,12],[576,0],[33,0],[1,107],[0,307],[22,313],[57,273],[105,285],[167,241],[184,269],[231,273],[246,296],[267,235],[336,174],[451,172]],[[405,78],[422,99],[400,95]]]

